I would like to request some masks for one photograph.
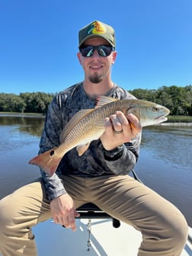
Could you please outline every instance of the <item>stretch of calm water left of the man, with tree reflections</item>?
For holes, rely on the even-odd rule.
[[[37,155],[43,118],[0,115],[0,198],[40,176],[29,159]]]

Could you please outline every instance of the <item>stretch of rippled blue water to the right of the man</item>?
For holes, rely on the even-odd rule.
[[[143,130],[136,172],[153,190],[170,200],[192,226],[191,126],[149,126]]]

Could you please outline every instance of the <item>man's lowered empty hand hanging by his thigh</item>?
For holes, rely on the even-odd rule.
[[[50,210],[54,222],[76,231],[75,217],[79,216],[69,194],[63,194],[50,202]]]

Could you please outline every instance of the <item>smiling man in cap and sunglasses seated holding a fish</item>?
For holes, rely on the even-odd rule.
[[[99,96],[134,98],[110,78],[117,56],[114,29],[94,21],[79,31],[78,38],[78,60],[85,79],[53,99],[40,139],[40,153],[58,146],[66,123],[78,110],[93,108]],[[51,178],[41,171],[40,180],[1,200],[3,256],[36,255],[31,227],[51,217],[75,231],[76,209],[88,202],[142,232],[139,256],[181,254],[187,240],[184,216],[127,174],[139,157],[139,120],[133,114],[126,117],[117,111],[104,124],[103,135],[91,142],[84,155],[79,157],[72,149],[64,155]]]

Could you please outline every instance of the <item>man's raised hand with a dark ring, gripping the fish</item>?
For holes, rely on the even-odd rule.
[[[106,150],[112,150],[125,142],[130,142],[142,127],[137,117],[128,114],[127,117],[121,112],[105,118],[105,131],[101,135],[101,142]]]

